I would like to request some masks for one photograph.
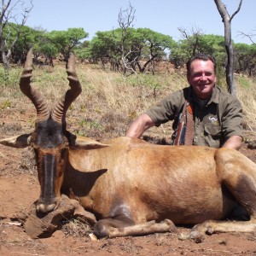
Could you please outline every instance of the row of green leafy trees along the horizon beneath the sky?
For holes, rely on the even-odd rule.
[[[192,34],[183,40],[174,41],[172,37],[154,32],[149,28],[127,27],[108,32],[96,32],[91,41],[84,41],[88,33],[83,28],[68,28],[67,31],[46,32],[42,28],[32,29],[29,26],[20,26],[15,23],[7,23],[3,27],[3,39],[7,47],[17,37],[20,30],[20,38],[12,49],[11,62],[22,64],[26,59],[26,52],[33,46],[35,60],[39,55],[44,55],[52,61],[58,54],[67,58],[71,51],[80,61],[102,62],[105,67],[115,71],[124,71],[125,63],[139,73],[145,73],[148,65],[154,61],[169,61],[176,69],[184,67],[189,57],[197,52],[205,52],[214,55],[218,63],[218,81],[224,82],[224,68],[227,63],[227,55],[224,47],[224,37],[218,35]],[[234,44],[235,72],[247,73],[253,77],[256,74],[256,44]],[[7,49],[5,49],[7,50]],[[0,81],[3,84],[14,83],[14,78],[9,78],[9,73],[3,73]],[[13,81],[12,81],[13,80]],[[225,84],[225,82],[224,82]]]

